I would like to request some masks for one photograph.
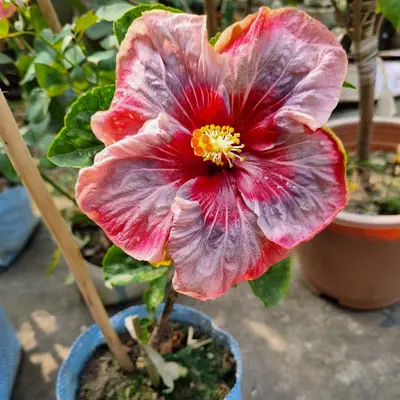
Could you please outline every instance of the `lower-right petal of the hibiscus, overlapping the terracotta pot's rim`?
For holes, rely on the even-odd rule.
[[[243,154],[238,189],[265,236],[285,248],[311,239],[346,205],[345,155],[332,132],[309,128]]]

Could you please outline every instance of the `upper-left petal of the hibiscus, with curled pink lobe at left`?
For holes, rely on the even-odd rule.
[[[229,102],[221,85],[228,73],[207,40],[205,17],[150,11],[136,19],[117,56],[117,87],[108,111],[92,128],[106,145],[138,132],[165,113],[190,131],[223,125]]]

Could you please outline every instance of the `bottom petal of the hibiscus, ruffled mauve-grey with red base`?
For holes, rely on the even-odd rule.
[[[181,293],[215,299],[288,255],[265,238],[229,173],[187,182],[172,209],[168,250],[176,265],[174,288]]]

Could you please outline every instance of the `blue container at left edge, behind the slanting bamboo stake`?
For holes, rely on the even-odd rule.
[[[14,261],[39,222],[32,214],[31,202],[23,186],[0,193],[0,221],[1,269]]]

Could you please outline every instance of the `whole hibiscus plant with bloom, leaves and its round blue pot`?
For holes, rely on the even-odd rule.
[[[114,32],[116,86],[71,106],[48,155],[81,168],[77,203],[118,246],[106,283],[148,282],[146,309],[111,319],[135,370],[93,326],[60,368],[57,398],[241,399],[237,343],[177,295],[211,300],[247,280],[266,305],[279,301],[291,249],[346,203],[345,156],[321,128],[345,52],[293,8],[263,7],[211,45],[204,17],[157,4]]]

